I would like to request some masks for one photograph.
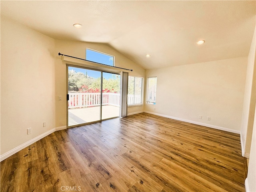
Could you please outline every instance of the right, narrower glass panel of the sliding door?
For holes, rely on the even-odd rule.
[[[102,72],[102,119],[120,116],[120,75]]]

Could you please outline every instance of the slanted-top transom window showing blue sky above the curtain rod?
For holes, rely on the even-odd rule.
[[[114,66],[114,56],[86,48],[85,58],[88,61]]]

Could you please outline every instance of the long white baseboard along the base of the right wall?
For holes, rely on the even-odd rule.
[[[187,123],[202,125],[202,126],[206,126],[206,127],[210,127],[210,128],[214,128],[214,129],[218,129],[218,130],[223,130],[223,131],[227,131],[227,132],[231,132],[231,133],[240,134],[240,131],[238,131],[238,130],[233,130],[233,129],[229,129],[229,128],[225,128],[225,127],[220,127],[220,126],[216,126],[216,125],[201,123],[201,122],[197,122],[197,121],[186,120],[186,119],[172,117],[172,116],[163,115],[163,114],[159,114],[159,113],[154,113],[154,112],[150,112],[150,111],[144,111],[144,112],[149,113],[149,114],[153,114],[153,115],[157,115],[157,116],[161,116],[161,117],[166,117],[166,118],[170,118],[170,119],[175,119],[175,120],[187,122]]]

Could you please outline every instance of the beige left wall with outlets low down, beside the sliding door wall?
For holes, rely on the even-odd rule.
[[[53,49],[52,38],[1,16],[1,155],[55,127]]]

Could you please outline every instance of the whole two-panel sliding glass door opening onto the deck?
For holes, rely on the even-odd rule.
[[[120,116],[120,75],[68,66],[68,127]]]

